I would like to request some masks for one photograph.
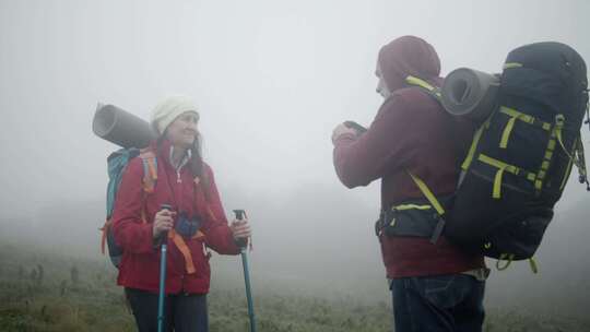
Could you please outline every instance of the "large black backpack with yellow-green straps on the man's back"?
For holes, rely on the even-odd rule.
[[[408,82],[440,100],[439,88],[416,78]],[[580,135],[588,107],[586,63],[573,48],[538,43],[512,50],[494,106],[462,164],[455,195],[439,203],[427,185],[410,174],[437,211],[436,226],[430,222],[429,227],[433,241],[442,233],[465,250],[508,264],[531,259],[534,271],[532,257],[573,165],[590,190]]]

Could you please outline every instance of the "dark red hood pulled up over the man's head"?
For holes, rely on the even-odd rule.
[[[414,36],[399,37],[381,47],[377,62],[390,92],[406,87],[408,75],[432,80],[440,74],[440,60],[434,47]]]

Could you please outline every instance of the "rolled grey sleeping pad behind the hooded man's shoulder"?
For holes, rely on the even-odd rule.
[[[498,90],[499,76],[459,68],[445,79],[440,92],[441,103],[451,115],[482,122],[494,109]]]

